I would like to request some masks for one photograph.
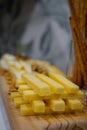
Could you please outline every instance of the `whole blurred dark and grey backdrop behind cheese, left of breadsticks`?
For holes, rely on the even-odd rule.
[[[0,56],[49,61],[67,72],[71,52],[68,0],[0,0]]]

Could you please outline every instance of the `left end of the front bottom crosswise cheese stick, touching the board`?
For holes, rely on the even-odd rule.
[[[20,106],[20,113],[22,116],[34,115],[34,112],[32,111],[32,107],[30,104],[21,105]]]

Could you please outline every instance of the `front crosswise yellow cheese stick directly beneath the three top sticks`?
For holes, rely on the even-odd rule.
[[[32,101],[35,99],[77,99],[77,98],[83,98],[84,94],[82,91],[78,91],[76,94],[68,94],[67,92],[64,92],[64,94],[52,94],[50,96],[39,96],[34,90],[26,90],[23,91],[23,98],[27,101]]]

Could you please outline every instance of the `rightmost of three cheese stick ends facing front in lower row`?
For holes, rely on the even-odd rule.
[[[68,99],[67,100],[67,105],[71,110],[82,110],[83,105],[78,99]]]

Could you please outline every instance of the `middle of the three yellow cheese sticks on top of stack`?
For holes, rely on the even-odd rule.
[[[57,83],[55,80],[47,77],[46,75],[43,75],[43,74],[38,74],[36,73],[36,76],[42,80],[43,82],[47,83],[50,88],[51,88],[51,91],[53,93],[56,93],[56,94],[61,94],[64,92],[64,87],[63,85]]]

